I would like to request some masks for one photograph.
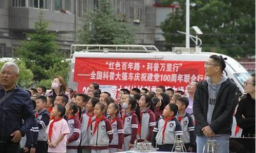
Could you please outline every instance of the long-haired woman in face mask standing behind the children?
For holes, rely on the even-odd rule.
[[[52,90],[46,92],[46,96],[51,95],[55,98],[57,95],[66,94],[69,97],[69,101],[71,101],[69,92],[62,77],[55,77],[52,81],[51,88]]]

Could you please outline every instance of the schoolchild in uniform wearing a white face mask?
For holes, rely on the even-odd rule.
[[[130,150],[133,147],[134,141],[138,134],[138,116],[135,114],[137,101],[134,97],[129,96],[122,104],[122,109],[125,111],[123,115],[123,131],[124,141],[123,150]]]

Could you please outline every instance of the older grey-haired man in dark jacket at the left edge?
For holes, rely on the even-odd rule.
[[[31,129],[34,121],[30,96],[15,83],[18,71],[13,62],[5,63],[1,69],[0,153],[18,152],[20,138]]]

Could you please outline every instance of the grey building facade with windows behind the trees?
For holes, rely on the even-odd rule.
[[[24,33],[34,32],[39,12],[49,21],[49,31],[57,35],[61,53],[69,57],[70,45],[83,25],[85,13],[100,9],[110,0],[0,0],[0,58],[16,57]],[[155,44],[164,41],[160,23],[176,5],[163,6],[159,0],[112,0],[114,13],[135,25],[136,44]]]

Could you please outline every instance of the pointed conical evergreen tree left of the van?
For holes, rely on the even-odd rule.
[[[44,20],[42,12],[35,21],[34,33],[27,33],[27,40],[22,41],[17,49],[18,57],[34,74],[34,81],[49,79],[47,70],[59,63],[62,58],[57,52],[56,36],[48,31],[49,22]]]

